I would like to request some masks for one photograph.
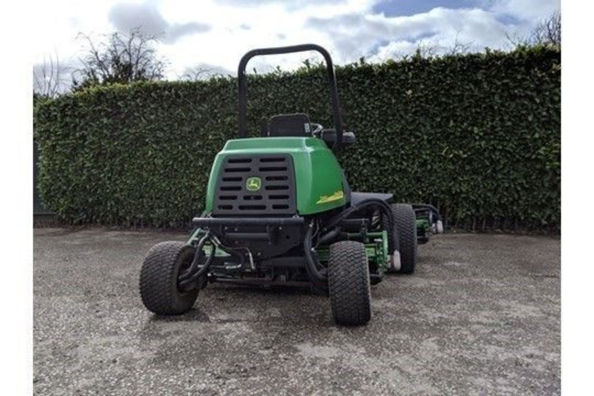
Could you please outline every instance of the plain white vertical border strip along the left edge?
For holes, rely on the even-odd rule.
[[[29,49],[40,32],[27,23],[34,12],[31,4],[5,6],[0,24],[2,393],[27,395],[33,393],[33,57]]]

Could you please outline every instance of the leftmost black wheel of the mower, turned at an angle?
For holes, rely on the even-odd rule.
[[[168,241],[154,245],[140,270],[140,297],[144,306],[157,315],[179,315],[187,312],[198,297],[198,287],[182,290],[179,274],[194,259],[194,246]]]

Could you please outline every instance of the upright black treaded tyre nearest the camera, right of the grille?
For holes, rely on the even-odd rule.
[[[328,294],[334,321],[364,325],[371,319],[371,286],[365,246],[343,240],[330,245]]]

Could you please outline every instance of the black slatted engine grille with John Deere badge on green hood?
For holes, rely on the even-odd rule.
[[[228,156],[219,171],[213,214],[295,214],[294,174],[289,155]],[[249,178],[260,179],[257,191],[248,190]]]

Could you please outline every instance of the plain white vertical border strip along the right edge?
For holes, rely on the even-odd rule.
[[[561,4],[561,387],[592,389],[594,57],[591,2]],[[535,334],[538,337],[538,334]]]

